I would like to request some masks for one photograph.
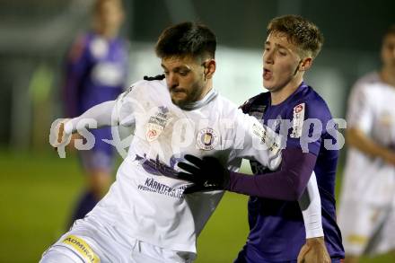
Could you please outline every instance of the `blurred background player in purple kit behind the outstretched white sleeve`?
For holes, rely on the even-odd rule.
[[[66,116],[74,118],[103,101],[115,100],[127,78],[127,43],[118,37],[124,20],[121,0],[96,0],[93,28],[79,36],[66,61],[64,102]],[[83,218],[107,192],[111,182],[114,148],[101,139],[111,139],[110,128],[92,131],[96,144],[79,152],[88,186],[69,222]],[[74,139],[79,139],[75,135]]]

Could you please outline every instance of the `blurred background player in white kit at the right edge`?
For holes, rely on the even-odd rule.
[[[345,262],[395,249],[395,25],[382,39],[382,69],[355,83],[338,223]]]

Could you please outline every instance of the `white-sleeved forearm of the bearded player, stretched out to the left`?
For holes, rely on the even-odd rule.
[[[86,110],[81,116],[70,119],[65,126],[65,133],[72,134],[79,128],[106,127],[117,125],[114,112],[115,101],[106,101]]]

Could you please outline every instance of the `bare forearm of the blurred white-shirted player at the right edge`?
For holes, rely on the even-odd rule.
[[[357,128],[347,129],[347,142],[348,145],[373,157],[386,159],[388,155],[394,154],[390,149],[378,145],[371,138],[365,136],[364,133]]]

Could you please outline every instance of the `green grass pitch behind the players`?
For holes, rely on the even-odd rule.
[[[75,158],[0,152],[0,262],[38,262],[65,231],[83,185]],[[233,262],[248,233],[247,197],[227,193],[198,240],[197,263]],[[394,237],[395,238],[395,237]],[[362,263],[393,262],[388,256]]]

